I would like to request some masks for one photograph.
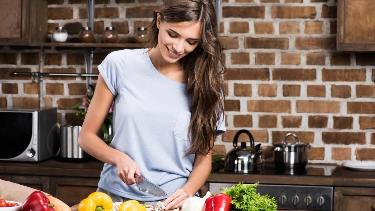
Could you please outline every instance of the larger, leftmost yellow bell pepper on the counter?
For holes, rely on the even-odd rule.
[[[112,211],[113,202],[110,196],[102,192],[94,192],[81,200],[78,211]]]

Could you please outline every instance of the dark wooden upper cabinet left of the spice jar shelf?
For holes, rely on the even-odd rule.
[[[0,45],[45,42],[47,0],[1,0]]]

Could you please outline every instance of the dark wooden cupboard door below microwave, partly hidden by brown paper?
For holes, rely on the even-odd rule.
[[[48,176],[13,176],[12,181],[20,185],[25,185],[49,193]]]

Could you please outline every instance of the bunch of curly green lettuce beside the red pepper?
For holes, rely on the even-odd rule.
[[[233,211],[277,211],[276,200],[271,199],[269,195],[260,196],[257,193],[259,182],[255,184],[246,184],[239,182],[232,187],[223,188],[220,193],[225,193],[232,198]]]

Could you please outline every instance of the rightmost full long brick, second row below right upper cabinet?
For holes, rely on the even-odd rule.
[[[323,81],[366,81],[366,69],[322,69]]]

